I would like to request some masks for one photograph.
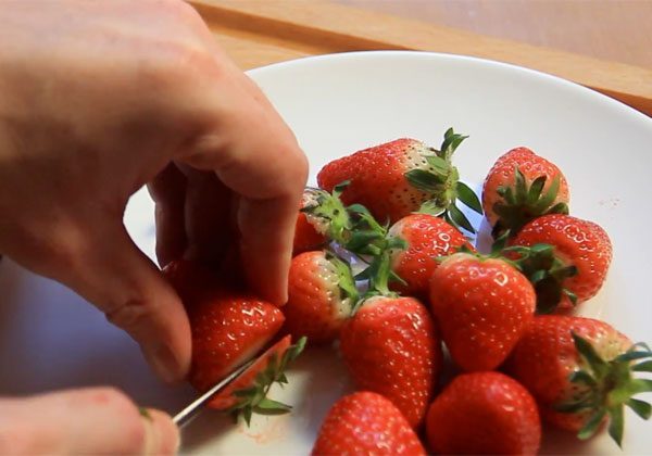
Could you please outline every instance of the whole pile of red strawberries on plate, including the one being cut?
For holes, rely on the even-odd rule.
[[[358,392],[333,406],[314,455],[536,454],[541,421],[580,439],[609,422],[620,444],[625,406],[651,415],[632,396],[652,391],[636,376],[652,352],[573,315],[604,282],[607,235],[568,215],[562,172],[526,148],[496,162],[480,202],[452,164],[465,138],[449,129],[439,149],[399,139],[327,164],[304,193],[280,309],[198,265],[170,266],[191,318],[192,384],[280,335],[213,405],[247,420],[288,410],[269,385],[305,340],[334,344]],[[485,214],[491,252],[465,237],[460,204]]]

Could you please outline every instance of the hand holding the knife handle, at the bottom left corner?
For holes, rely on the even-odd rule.
[[[0,454],[172,454],[178,430],[168,416],[142,416],[124,394],[106,388],[29,398],[0,398]]]

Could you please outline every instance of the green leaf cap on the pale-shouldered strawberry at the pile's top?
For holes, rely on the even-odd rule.
[[[452,164],[452,156],[457,147],[468,136],[454,132],[449,128],[443,135],[439,150],[432,149],[434,155],[426,156],[428,169],[412,169],[405,173],[405,179],[418,190],[430,195],[418,212],[443,217],[449,224],[475,233],[475,229],[464,213],[456,206],[461,201],[478,214],[482,214],[482,205],[475,192],[460,181],[460,173]]]

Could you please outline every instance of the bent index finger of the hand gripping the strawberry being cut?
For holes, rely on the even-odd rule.
[[[281,304],[308,161],[278,113],[259,100],[262,94],[252,96],[250,81],[224,84],[228,91],[213,93],[221,107],[211,129],[179,160],[213,170],[240,197],[237,220],[247,277],[264,297]]]

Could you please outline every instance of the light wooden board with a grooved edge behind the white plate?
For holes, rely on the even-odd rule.
[[[322,0],[190,0],[243,69],[379,49],[507,62],[581,84],[652,116],[652,69],[475,35]]]

